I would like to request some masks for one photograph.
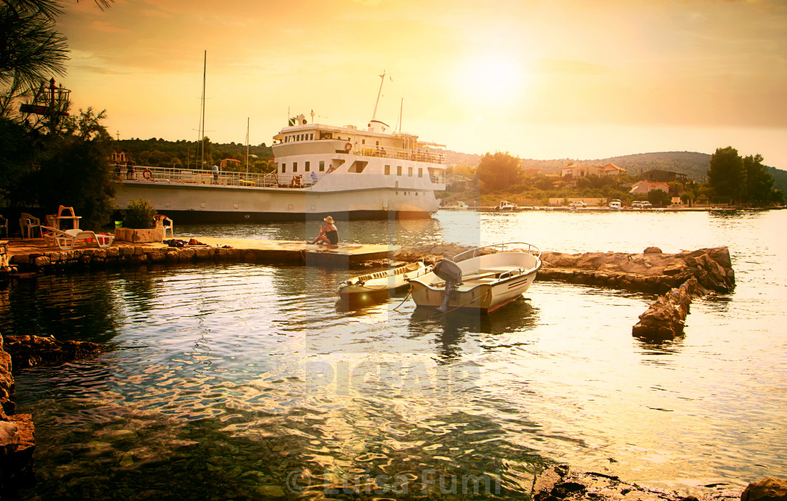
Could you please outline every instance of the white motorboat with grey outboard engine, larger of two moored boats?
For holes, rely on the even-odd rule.
[[[475,308],[490,313],[521,296],[541,268],[541,251],[508,242],[462,252],[410,281],[416,305],[448,311]]]

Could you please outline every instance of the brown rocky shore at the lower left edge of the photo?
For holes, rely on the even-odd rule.
[[[35,426],[31,414],[16,414],[12,368],[50,365],[94,355],[101,345],[54,337],[0,336],[0,492],[33,480]]]

